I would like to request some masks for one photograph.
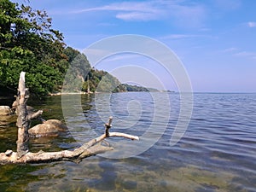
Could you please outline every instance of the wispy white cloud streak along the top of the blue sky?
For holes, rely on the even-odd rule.
[[[205,8],[201,4],[162,0],[110,3],[72,13],[82,14],[92,11],[113,11],[117,19],[125,21],[171,20],[183,27],[202,26],[206,16]]]

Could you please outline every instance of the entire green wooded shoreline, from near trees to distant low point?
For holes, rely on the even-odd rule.
[[[40,97],[61,88],[87,91],[88,85],[93,92],[148,91],[91,68],[84,54],[66,47],[45,11],[0,0],[0,89],[16,91],[21,71],[30,92]]]

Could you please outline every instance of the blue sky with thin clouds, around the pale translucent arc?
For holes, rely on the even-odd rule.
[[[12,1],[45,10],[74,49],[125,34],[143,36],[172,50],[195,92],[256,92],[256,1]],[[179,90],[182,79],[165,65],[150,55],[124,52],[95,67],[124,83]]]

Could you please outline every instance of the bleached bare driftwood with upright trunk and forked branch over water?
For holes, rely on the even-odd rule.
[[[90,140],[88,143],[84,143],[81,147],[74,150],[62,150],[57,152],[44,152],[38,153],[29,152],[29,125],[30,120],[38,118],[43,111],[29,114],[26,110],[26,102],[28,99],[28,91],[25,86],[25,73],[20,73],[18,98],[17,98],[17,126],[18,126],[18,140],[17,140],[17,152],[7,150],[5,153],[0,153],[0,165],[3,164],[18,164],[18,163],[38,163],[57,160],[73,160],[79,162],[86,157],[100,154],[108,150],[112,150],[112,147],[102,146],[101,142],[106,137],[125,137],[131,140],[139,140],[139,137],[128,135],[120,132],[109,132],[112,123],[112,117],[109,118],[108,123],[105,124],[105,133]]]

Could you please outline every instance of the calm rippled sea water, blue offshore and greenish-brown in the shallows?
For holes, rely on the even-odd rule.
[[[141,141],[109,138],[115,150],[79,164],[0,166],[0,191],[256,191],[256,94],[195,93],[188,129],[174,146],[178,94],[168,94],[168,103],[163,93],[94,98],[84,95],[64,112],[70,133],[32,139],[31,150],[76,148],[102,134],[109,115],[112,131]],[[30,104],[44,109],[44,119],[64,120],[61,96]],[[16,131],[15,123],[0,127],[1,152],[15,150]]]

